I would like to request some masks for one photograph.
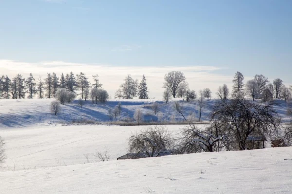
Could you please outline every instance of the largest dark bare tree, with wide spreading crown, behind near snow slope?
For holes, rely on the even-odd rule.
[[[274,103],[267,105],[253,103],[243,96],[228,101],[216,101],[212,107],[211,121],[217,121],[222,128],[230,132],[240,150],[245,150],[246,140],[250,135],[272,135],[279,130],[277,112]]]

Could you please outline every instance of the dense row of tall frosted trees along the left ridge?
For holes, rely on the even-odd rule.
[[[12,80],[6,76],[0,76],[0,99],[1,98],[33,98],[38,95],[39,98],[56,98],[58,88],[64,88],[67,93],[72,92],[76,94],[79,90],[81,98],[86,98],[86,92],[90,88],[101,88],[102,84],[99,83],[98,75],[93,75],[94,83],[88,81],[88,77],[82,72],[75,75],[70,72],[69,74],[61,74],[58,77],[55,73],[47,73],[45,79],[41,76],[37,80],[32,74],[27,79],[22,75],[17,74]],[[86,91],[87,90],[87,91]]]

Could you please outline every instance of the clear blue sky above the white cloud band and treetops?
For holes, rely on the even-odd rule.
[[[0,59],[212,66],[292,83],[291,10],[291,0],[0,0]]]

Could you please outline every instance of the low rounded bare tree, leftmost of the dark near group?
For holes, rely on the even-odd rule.
[[[157,157],[169,152],[173,139],[165,126],[155,125],[138,133],[132,133],[128,144],[129,151],[137,154],[137,157]]]

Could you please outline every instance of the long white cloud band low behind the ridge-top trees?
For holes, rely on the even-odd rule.
[[[84,72],[92,81],[92,75],[98,74],[100,82],[104,84],[104,88],[109,91],[112,97],[114,97],[115,91],[119,88],[127,74],[131,74],[133,78],[139,81],[142,75],[145,74],[150,97],[161,98],[164,75],[169,71],[182,71],[186,76],[190,89],[198,91],[208,87],[211,88],[215,95],[219,85],[226,83],[228,86],[231,86],[233,78],[233,76],[214,72],[219,69],[214,66],[113,66],[110,64],[83,64],[63,61],[28,63],[0,60],[1,75],[7,74],[11,78],[18,73],[24,77],[28,77],[29,73],[32,73],[35,78],[39,75],[44,78],[47,73],[55,72],[60,76],[61,73],[66,74],[72,71],[74,74]]]

